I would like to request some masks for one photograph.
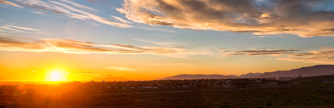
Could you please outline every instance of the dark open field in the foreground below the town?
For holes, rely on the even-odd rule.
[[[302,78],[296,80],[296,84],[249,83],[258,87],[241,89],[196,88],[187,91],[169,88],[175,90],[152,92],[146,89],[148,91],[137,93],[76,95],[31,94],[22,97],[0,95],[0,101],[14,103],[14,108],[332,108],[334,83],[320,83],[318,80],[321,78]],[[326,80],[330,80],[328,78]]]

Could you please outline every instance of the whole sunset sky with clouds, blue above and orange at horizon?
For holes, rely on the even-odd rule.
[[[0,80],[153,80],[334,64],[332,0],[0,0]]]

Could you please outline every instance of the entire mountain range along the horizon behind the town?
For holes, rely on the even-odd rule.
[[[334,75],[334,65],[314,65],[310,67],[302,67],[299,69],[291,69],[286,71],[275,71],[275,72],[265,72],[265,73],[248,73],[237,75],[203,75],[203,74],[180,74],[170,77],[162,78],[162,80],[167,79],[229,79],[229,78],[270,78],[270,77],[297,77],[298,75],[306,76],[320,76],[320,75]],[[156,78],[155,80],[160,80]]]

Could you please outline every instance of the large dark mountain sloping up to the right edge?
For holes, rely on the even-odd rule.
[[[334,75],[334,65],[314,65],[286,71],[265,72],[255,78]]]

